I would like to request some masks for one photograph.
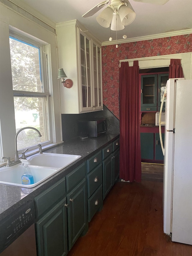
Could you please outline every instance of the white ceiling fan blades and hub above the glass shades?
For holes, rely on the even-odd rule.
[[[133,0],[135,2],[140,2],[140,3],[148,3],[148,4],[155,4],[155,5],[164,5],[166,4],[169,0]],[[126,0],[106,0],[103,1],[101,3],[99,3],[98,5],[95,5],[91,10],[89,10],[88,12],[86,12],[84,15],[82,15],[83,18],[87,18],[90,17],[92,15],[94,15],[95,13],[97,13],[101,8],[103,8],[104,6],[108,5],[109,2],[111,2],[111,5],[118,8],[118,5],[123,3],[126,6],[130,3],[129,1]]]

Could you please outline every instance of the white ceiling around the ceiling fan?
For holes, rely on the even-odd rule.
[[[14,2],[27,4],[48,17],[54,23],[68,20],[79,20],[101,42],[109,41],[110,28],[100,26],[96,17],[104,8],[92,17],[82,18],[82,15],[103,0],[15,0]],[[151,0],[153,1],[153,0]],[[192,0],[170,0],[165,5],[152,5],[129,0],[136,18],[125,31],[118,31],[118,39],[124,33],[127,38],[174,32],[192,29]],[[112,31],[113,39],[116,32]]]

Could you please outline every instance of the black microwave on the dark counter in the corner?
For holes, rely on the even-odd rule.
[[[106,119],[95,121],[78,121],[80,137],[98,137],[106,133]]]

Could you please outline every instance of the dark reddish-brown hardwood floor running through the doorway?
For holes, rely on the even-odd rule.
[[[163,232],[163,166],[142,166],[142,182],[117,182],[68,256],[191,256]],[[157,168],[158,171],[154,169]],[[155,173],[161,173],[156,175]],[[153,181],[153,179],[155,181]],[[156,181],[158,180],[158,181]]]

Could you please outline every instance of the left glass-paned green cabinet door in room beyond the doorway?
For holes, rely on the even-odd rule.
[[[157,75],[141,76],[141,107],[148,111],[157,110]]]

